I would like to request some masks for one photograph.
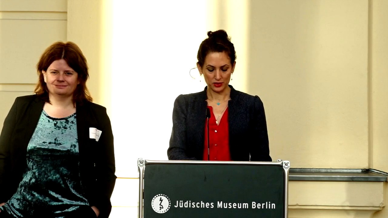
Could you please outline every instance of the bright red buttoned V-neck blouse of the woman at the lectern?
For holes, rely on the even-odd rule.
[[[222,115],[220,124],[217,125],[216,118],[213,114],[213,108],[210,109],[209,118],[209,149],[210,149],[210,161],[231,161],[229,151],[229,122],[228,122],[228,109],[227,108]],[[203,149],[203,160],[208,160],[208,131],[207,123],[205,122],[205,141]]]

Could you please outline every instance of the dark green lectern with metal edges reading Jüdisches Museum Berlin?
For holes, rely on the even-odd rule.
[[[288,218],[289,161],[137,164],[138,218]]]

